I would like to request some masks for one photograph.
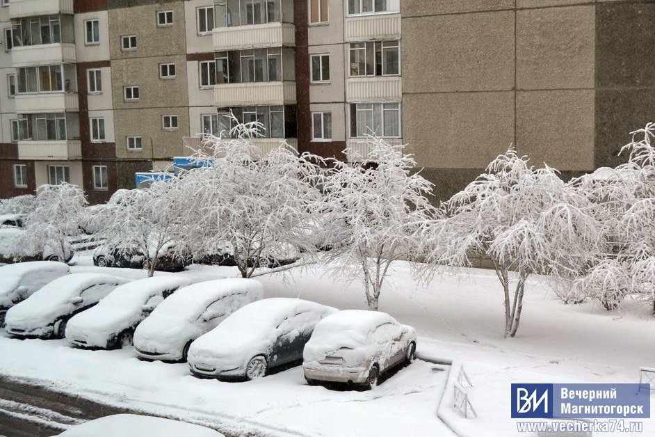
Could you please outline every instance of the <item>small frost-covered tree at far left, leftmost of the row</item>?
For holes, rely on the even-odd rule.
[[[49,246],[58,260],[66,260],[68,241],[82,234],[79,223],[86,216],[87,203],[79,186],[67,183],[39,186],[31,205],[33,209],[24,218],[26,232],[15,242],[14,255],[31,256]]]

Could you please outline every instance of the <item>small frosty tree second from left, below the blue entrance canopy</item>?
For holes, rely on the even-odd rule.
[[[148,276],[156,271],[162,249],[175,244],[181,223],[179,186],[174,182],[153,182],[145,189],[121,189],[91,219],[97,228],[98,244],[144,255]],[[184,242],[182,240],[182,242]],[[184,244],[177,244],[184,248]],[[183,256],[182,252],[177,256]]]

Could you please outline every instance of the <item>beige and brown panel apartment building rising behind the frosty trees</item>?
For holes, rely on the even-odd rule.
[[[408,143],[439,198],[510,144],[565,177],[615,165],[655,118],[653,1],[0,1],[0,197],[103,202],[230,112],[264,152]]]

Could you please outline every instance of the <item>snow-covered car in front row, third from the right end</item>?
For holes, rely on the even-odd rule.
[[[179,289],[136,327],[136,355],[184,361],[193,340],[262,294],[259,281],[243,278],[208,280]]]

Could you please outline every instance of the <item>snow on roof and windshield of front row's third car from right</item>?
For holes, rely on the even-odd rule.
[[[210,303],[236,293],[261,293],[261,283],[254,279],[227,278],[188,285],[165,299],[152,315],[195,320]]]

